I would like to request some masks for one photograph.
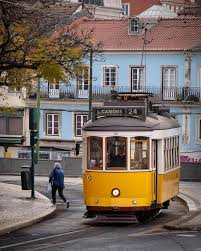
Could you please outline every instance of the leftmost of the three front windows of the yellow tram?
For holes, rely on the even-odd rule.
[[[103,168],[103,139],[100,137],[87,138],[88,169],[96,170]]]

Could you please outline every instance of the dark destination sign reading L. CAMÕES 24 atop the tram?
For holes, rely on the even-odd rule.
[[[94,108],[94,119],[97,117],[145,117],[145,107],[101,107]]]

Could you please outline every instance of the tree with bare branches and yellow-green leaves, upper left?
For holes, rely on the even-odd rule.
[[[80,71],[92,31],[78,34],[67,9],[56,0],[0,1],[0,86],[58,83]]]

